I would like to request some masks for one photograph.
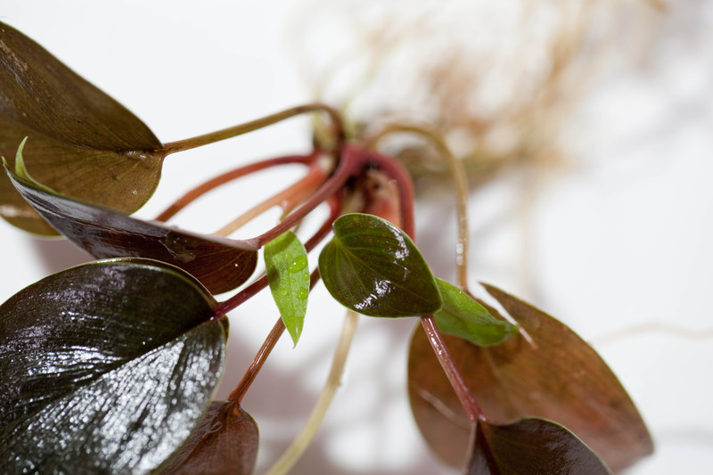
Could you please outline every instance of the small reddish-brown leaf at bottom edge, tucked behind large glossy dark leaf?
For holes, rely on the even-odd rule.
[[[161,475],[250,475],[258,456],[258,426],[234,402],[215,401]]]

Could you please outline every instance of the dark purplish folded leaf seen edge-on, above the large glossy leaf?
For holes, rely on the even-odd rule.
[[[21,164],[21,156],[18,154]],[[21,167],[20,167],[21,168]],[[212,293],[248,280],[258,251],[247,242],[188,233],[63,196],[6,170],[40,216],[95,258],[153,258],[181,267]]]

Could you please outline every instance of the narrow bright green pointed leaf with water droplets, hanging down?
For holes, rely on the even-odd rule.
[[[295,233],[287,231],[265,245],[265,269],[273,299],[297,345],[307,314],[309,267],[307,250]]]

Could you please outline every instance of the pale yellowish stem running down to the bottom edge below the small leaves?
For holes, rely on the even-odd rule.
[[[316,431],[322,425],[324,415],[327,409],[332,404],[332,399],[337,389],[341,384],[341,374],[344,372],[344,365],[347,362],[347,355],[351,347],[351,341],[356,330],[358,315],[352,311],[348,311],[344,318],[344,324],[341,327],[340,340],[337,343],[337,348],[332,358],[332,368],[330,369],[327,381],[324,388],[317,398],[312,412],[307,418],[307,422],[298,436],[292,440],[292,443],[283,455],[270,467],[266,475],[283,475],[290,471],[292,466],[299,460],[299,457],[304,453],[309,443],[315,438]]]

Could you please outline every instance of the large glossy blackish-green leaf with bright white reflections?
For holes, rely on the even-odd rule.
[[[4,471],[146,473],[188,438],[225,359],[227,319],[148,259],[72,267],[0,306]]]

